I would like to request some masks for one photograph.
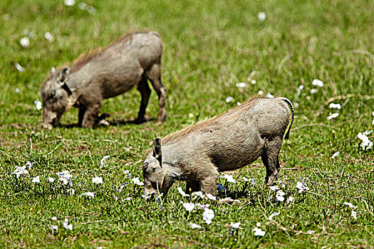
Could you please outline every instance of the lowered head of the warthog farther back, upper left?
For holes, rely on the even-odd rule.
[[[52,68],[51,75],[41,88],[43,100],[43,127],[52,129],[60,121],[63,112],[66,112],[69,105],[71,90],[66,85],[70,68],[63,68],[59,73]]]

